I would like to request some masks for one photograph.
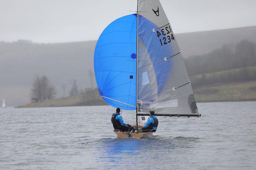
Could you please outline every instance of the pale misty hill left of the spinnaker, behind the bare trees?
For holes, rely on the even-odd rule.
[[[46,75],[56,86],[76,79],[79,88],[90,87],[87,72],[92,69],[96,41],[38,44],[31,41],[0,42],[0,99],[7,106],[25,104],[30,101],[29,91],[33,78]],[[9,102],[8,102],[9,101]]]

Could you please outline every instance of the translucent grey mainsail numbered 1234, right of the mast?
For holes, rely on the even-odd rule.
[[[180,48],[159,0],[138,1],[139,112],[197,114]]]

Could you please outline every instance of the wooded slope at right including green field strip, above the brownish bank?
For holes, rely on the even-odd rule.
[[[242,40],[184,59],[193,87],[256,80],[256,44]]]

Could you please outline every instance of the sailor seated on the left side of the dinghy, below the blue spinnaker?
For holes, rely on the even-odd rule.
[[[114,129],[119,129],[123,132],[131,131],[133,128],[131,125],[124,123],[122,115],[120,115],[120,108],[116,108],[116,113],[111,117]]]

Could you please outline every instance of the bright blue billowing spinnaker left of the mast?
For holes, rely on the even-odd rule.
[[[94,51],[94,72],[101,96],[109,105],[136,108],[137,15],[116,19],[101,33]]]

